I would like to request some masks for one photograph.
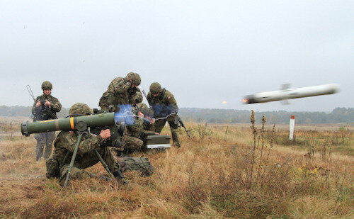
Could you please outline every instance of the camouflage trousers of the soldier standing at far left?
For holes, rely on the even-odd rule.
[[[52,154],[53,141],[55,140],[55,132],[49,133],[37,133],[35,134],[35,140],[37,140],[37,145],[35,147],[35,158],[40,160],[43,157],[48,159],[50,154]]]

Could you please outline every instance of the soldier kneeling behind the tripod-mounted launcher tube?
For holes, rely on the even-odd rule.
[[[89,106],[84,103],[75,103],[69,110],[70,115],[89,115],[91,110]],[[101,147],[101,142],[110,137],[110,130],[101,130],[99,135],[93,135],[87,133],[82,137],[82,140],[79,145],[79,150],[76,155],[74,162],[74,167],[72,168],[72,173],[70,177],[72,179],[81,179],[87,178],[90,176],[89,173],[85,172],[84,169],[91,167],[94,164],[100,162],[96,153],[93,150],[101,155],[105,163],[108,165],[108,168],[113,173],[115,177],[118,176],[118,164],[115,160],[113,153],[110,151],[109,147]],[[47,177],[63,177],[67,170],[69,169],[69,164],[72,159],[72,152],[77,142],[78,134],[76,131],[62,131],[59,133],[55,139],[54,146],[55,150],[51,159],[47,160]],[[69,151],[69,157],[66,159],[64,164],[62,164],[65,155]],[[53,167],[57,164],[57,167]],[[62,167],[59,169],[59,164],[62,164]],[[57,172],[56,172],[57,171]],[[53,174],[54,173],[54,174]]]

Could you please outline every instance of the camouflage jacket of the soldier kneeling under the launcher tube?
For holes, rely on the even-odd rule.
[[[54,152],[53,159],[57,162],[62,163],[67,152],[74,152],[78,135],[74,132],[62,131],[59,133],[54,141]],[[101,142],[103,141],[101,135],[92,135],[88,133],[84,135],[81,139],[79,150],[77,150],[77,155],[75,162],[80,162],[81,159],[85,158],[86,155],[92,154],[94,149],[101,147]],[[72,159],[72,153],[69,154],[66,164]]]

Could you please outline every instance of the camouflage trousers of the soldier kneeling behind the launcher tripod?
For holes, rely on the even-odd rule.
[[[117,162],[115,161],[115,157],[113,153],[110,151],[109,147],[100,147],[96,149],[97,152],[101,155],[102,159],[104,160],[105,164],[107,164],[110,172],[115,172],[119,169]],[[69,156],[67,161],[65,162],[64,166],[60,169],[60,177],[64,177],[69,169],[69,164],[72,157]],[[59,161],[62,162],[62,161]],[[90,177],[90,174],[84,169],[88,167],[92,167],[93,165],[100,162],[96,153],[94,151],[87,152],[84,155],[76,155],[74,167],[72,167],[72,172],[70,173],[70,179],[83,179]],[[64,179],[61,181],[63,182]]]

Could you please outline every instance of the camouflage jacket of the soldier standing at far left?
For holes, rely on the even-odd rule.
[[[41,105],[36,107],[37,101],[50,101],[50,106]],[[47,120],[57,118],[57,112],[62,109],[62,104],[52,95],[42,94],[35,99],[33,103],[32,114],[33,120]]]

